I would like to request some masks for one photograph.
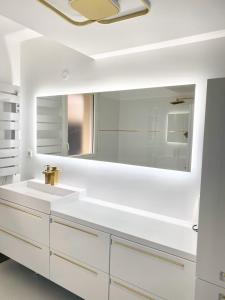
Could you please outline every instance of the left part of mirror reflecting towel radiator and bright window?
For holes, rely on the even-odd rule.
[[[38,98],[37,152],[63,156],[91,154],[93,114],[93,95]]]

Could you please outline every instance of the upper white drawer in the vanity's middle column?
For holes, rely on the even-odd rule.
[[[53,218],[50,231],[50,247],[53,251],[109,273],[108,234],[59,218]]]

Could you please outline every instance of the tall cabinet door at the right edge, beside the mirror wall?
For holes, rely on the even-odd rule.
[[[225,288],[225,79],[208,81],[197,276]]]

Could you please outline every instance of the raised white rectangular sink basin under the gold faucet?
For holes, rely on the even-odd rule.
[[[79,200],[85,190],[65,185],[51,186],[39,180],[28,180],[0,187],[0,199],[23,205],[46,214],[68,201]]]

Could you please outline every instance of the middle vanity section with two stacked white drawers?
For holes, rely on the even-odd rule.
[[[85,300],[108,300],[110,235],[53,217],[50,279]]]

